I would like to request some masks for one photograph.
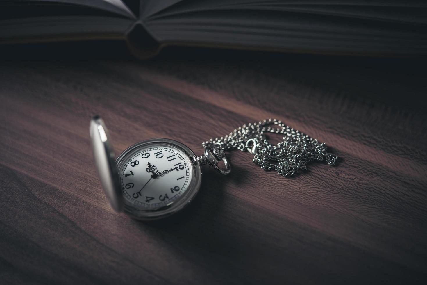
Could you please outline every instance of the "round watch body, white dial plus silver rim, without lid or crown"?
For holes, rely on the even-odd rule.
[[[171,214],[184,207],[200,187],[201,167],[194,153],[168,139],[129,147],[117,159],[125,210],[144,218]]]

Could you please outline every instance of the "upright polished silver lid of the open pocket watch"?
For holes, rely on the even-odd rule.
[[[123,196],[120,190],[119,175],[114,162],[114,152],[104,121],[96,116],[92,118],[89,127],[91,144],[94,153],[95,166],[101,181],[102,189],[111,207],[120,212],[123,209]]]

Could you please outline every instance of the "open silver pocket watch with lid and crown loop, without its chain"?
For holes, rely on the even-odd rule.
[[[211,144],[196,156],[178,141],[152,138],[128,147],[115,159],[108,130],[98,116],[91,120],[90,135],[99,180],[111,207],[136,219],[167,217],[187,206],[199,191],[202,164],[230,173],[224,151]],[[220,161],[224,169],[218,166]]]

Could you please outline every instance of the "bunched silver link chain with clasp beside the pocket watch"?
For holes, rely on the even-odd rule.
[[[270,144],[266,133],[283,134],[283,141]],[[211,138],[203,143],[215,145],[223,150],[238,149],[254,155],[253,162],[263,170],[275,170],[283,176],[292,176],[299,169],[307,169],[311,161],[326,161],[335,165],[338,156],[328,153],[326,144],[292,129],[280,120],[268,119],[238,127],[229,135]]]

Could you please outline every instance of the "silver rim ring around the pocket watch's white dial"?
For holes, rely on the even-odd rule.
[[[191,201],[193,201],[194,197],[196,197],[196,194],[199,192],[200,185],[202,183],[202,166],[199,162],[197,162],[197,160],[193,160],[193,158],[196,158],[196,155],[185,144],[182,144],[179,141],[175,141],[169,138],[152,138],[149,140],[140,141],[128,147],[116,159],[117,172],[120,173],[120,171],[118,171],[119,166],[123,162],[123,159],[129,153],[132,153],[138,148],[142,148],[146,144],[152,143],[171,144],[174,147],[179,148],[183,153],[185,153],[188,156],[189,163],[191,163],[193,167],[193,179],[191,179],[190,184],[187,186],[187,190],[184,191],[178,201],[172,203],[170,206],[164,206],[159,209],[137,209],[136,206],[127,203],[126,198],[123,197],[123,200],[125,201],[124,212],[138,220],[157,220],[181,211],[182,209],[184,209],[185,206],[187,206]],[[123,196],[122,191],[120,191],[120,194]]]

